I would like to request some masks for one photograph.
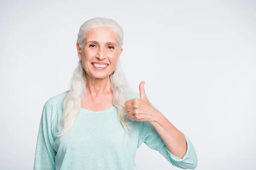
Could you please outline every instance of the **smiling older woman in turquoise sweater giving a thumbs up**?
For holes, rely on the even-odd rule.
[[[143,142],[176,167],[196,168],[193,144],[149,102],[145,82],[140,93],[128,87],[122,45],[114,20],[92,18],[80,27],[70,90],[44,104],[34,170],[136,170]]]

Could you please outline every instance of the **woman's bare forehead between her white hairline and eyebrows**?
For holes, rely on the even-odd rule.
[[[88,41],[98,41],[98,42],[114,42],[117,43],[116,33],[112,30],[112,28],[108,26],[101,26],[96,28],[91,28],[87,31],[85,35],[85,42]]]

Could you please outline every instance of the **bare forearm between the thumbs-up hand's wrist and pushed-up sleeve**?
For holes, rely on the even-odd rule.
[[[182,159],[187,150],[185,136],[160,111],[157,110],[155,115],[154,121],[150,122],[151,125],[157,130],[167,149]]]

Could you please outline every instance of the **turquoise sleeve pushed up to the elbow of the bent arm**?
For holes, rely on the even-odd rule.
[[[185,136],[187,143],[187,151],[183,159],[180,159],[177,156],[173,155],[167,149],[166,144],[157,133],[157,130],[155,130],[154,126],[148,122],[142,122],[141,124],[138,147],[140,147],[140,144],[144,142],[151,149],[157,150],[170,163],[172,163],[172,165],[181,169],[195,169],[197,167],[198,161],[195,147],[184,133],[183,135]]]

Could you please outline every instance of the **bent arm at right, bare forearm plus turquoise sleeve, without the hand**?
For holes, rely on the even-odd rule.
[[[141,122],[138,147],[144,142],[151,149],[157,150],[172,165],[181,169],[195,169],[198,158],[190,139],[177,130],[157,109],[155,114],[158,116],[154,122]]]

